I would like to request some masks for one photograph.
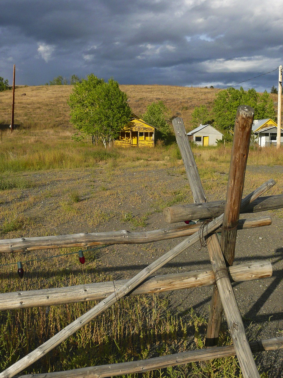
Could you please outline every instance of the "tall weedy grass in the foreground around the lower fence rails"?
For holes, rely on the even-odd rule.
[[[2,291],[34,290],[109,280],[111,277],[95,273],[95,263],[87,271],[76,272],[75,255],[62,265],[57,263],[29,267],[29,273],[19,280],[10,266],[2,273]],[[6,259],[9,261],[9,258]],[[42,264],[42,263],[41,263]],[[38,307],[2,311],[0,314],[0,367],[6,369],[18,359],[47,341],[67,324],[81,316],[95,302],[63,306]],[[143,295],[124,298],[91,323],[69,337],[48,355],[32,364],[23,373],[60,371],[109,363],[139,360],[183,352],[203,347],[205,319],[190,310],[180,316],[169,310],[168,300],[161,296]],[[8,336],[8,337],[7,337]],[[221,334],[225,344],[231,343],[227,331]],[[217,370],[217,374],[215,373]],[[206,371],[199,364],[188,364],[174,369],[161,369],[143,375],[129,376],[241,376],[235,358],[215,360]],[[206,374],[206,375],[205,375]]]

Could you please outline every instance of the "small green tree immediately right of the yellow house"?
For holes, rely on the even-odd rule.
[[[166,139],[171,132],[170,125],[166,120],[169,113],[170,110],[162,101],[152,102],[146,107],[146,112],[142,115],[142,118],[158,130],[162,139]]]

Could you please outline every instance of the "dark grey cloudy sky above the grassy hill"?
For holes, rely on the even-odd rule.
[[[226,87],[283,64],[282,0],[0,0],[0,76]],[[278,87],[278,70],[241,84]],[[238,88],[239,86],[237,86]]]

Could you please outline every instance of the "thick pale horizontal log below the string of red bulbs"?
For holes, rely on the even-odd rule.
[[[229,268],[232,282],[255,280],[272,276],[269,261],[246,263]],[[40,306],[53,306],[75,302],[98,301],[120,289],[127,280],[88,283],[70,287],[43,290],[16,291],[0,294],[0,311]],[[166,274],[149,277],[130,295],[158,294],[163,291],[209,286],[215,283],[213,270]]]

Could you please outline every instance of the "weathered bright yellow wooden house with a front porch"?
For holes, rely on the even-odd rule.
[[[154,147],[155,127],[133,115],[130,122],[122,129],[115,146]]]

